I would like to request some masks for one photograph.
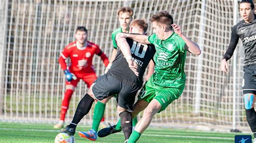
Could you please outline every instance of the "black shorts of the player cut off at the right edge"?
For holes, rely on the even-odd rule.
[[[256,94],[256,64],[244,66],[243,94]]]

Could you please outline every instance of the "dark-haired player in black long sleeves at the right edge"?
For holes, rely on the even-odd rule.
[[[241,1],[239,11],[243,20],[232,28],[230,44],[221,61],[220,68],[226,73],[228,72],[227,60],[233,55],[240,38],[245,49],[244,77],[242,79],[245,113],[254,135],[253,142],[256,142],[256,113],[254,110],[256,95],[256,16],[253,2],[251,0]]]

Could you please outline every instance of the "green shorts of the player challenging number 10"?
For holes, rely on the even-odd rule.
[[[161,105],[161,109],[158,113],[164,111],[169,104],[171,104],[175,99],[178,99],[185,87],[185,84],[181,85],[179,88],[160,87],[152,81],[153,78],[150,78],[150,80],[146,82],[142,90],[139,92],[138,99],[142,99],[148,103],[153,99],[156,99]]]

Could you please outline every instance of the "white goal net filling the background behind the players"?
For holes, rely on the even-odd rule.
[[[236,1],[0,0],[0,3],[1,121],[56,123],[65,91],[65,77],[58,63],[60,52],[75,40],[76,27],[83,25],[88,30],[88,40],[98,44],[110,57],[111,33],[119,26],[117,10],[130,6],[133,18],[147,21],[160,10],[169,11],[174,22],[202,50],[200,56],[187,53],[185,90],[153,118],[152,124],[225,125],[229,129],[235,124],[238,128],[248,128],[241,92],[242,47],[239,45],[238,54],[228,62],[228,74],[219,68],[231,28],[240,19]],[[152,34],[150,22],[149,27],[147,33]],[[97,56],[93,65],[98,76],[104,73],[105,67]],[[66,121],[72,119],[86,90],[80,81]],[[91,124],[92,111],[82,124]],[[118,118],[114,98],[106,105],[105,117],[112,122]]]

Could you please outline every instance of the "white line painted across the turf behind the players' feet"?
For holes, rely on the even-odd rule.
[[[59,130],[22,129],[22,128],[0,128],[0,130],[41,131],[41,132],[56,132],[56,133],[59,132]],[[117,134],[123,134],[123,133],[117,133]],[[143,136],[234,140],[234,138],[222,138],[222,137],[200,137],[200,136],[190,136],[190,135],[167,135],[167,134],[147,134],[147,133],[143,133]]]

